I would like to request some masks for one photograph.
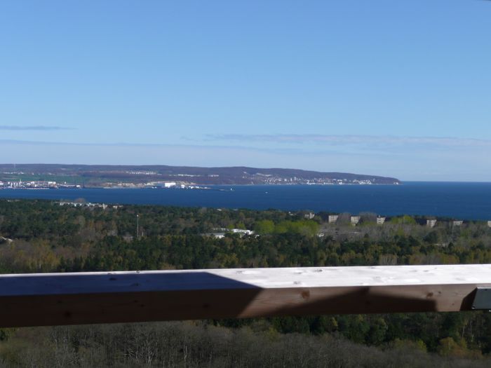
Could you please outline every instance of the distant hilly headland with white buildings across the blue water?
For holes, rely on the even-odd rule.
[[[400,184],[394,177],[347,172],[282,168],[196,168],[169,165],[0,164],[0,180],[27,179],[78,182],[100,186],[124,182],[185,182],[188,184]]]

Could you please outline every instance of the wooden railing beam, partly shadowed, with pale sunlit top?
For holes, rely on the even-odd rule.
[[[0,327],[470,311],[491,265],[0,275]]]

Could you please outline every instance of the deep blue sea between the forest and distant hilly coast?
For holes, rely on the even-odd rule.
[[[0,198],[264,210],[422,214],[491,219],[491,183],[405,182],[372,186],[213,186],[197,189],[3,189]],[[233,189],[233,190],[230,190]]]

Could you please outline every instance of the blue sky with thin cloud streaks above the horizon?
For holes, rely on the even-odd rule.
[[[491,181],[491,1],[0,2],[0,162]]]

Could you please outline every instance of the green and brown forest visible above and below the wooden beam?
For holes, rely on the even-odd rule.
[[[0,200],[0,273],[491,263],[485,222],[329,214]],[[0,329],[0,367],[489,367],[490,353],[484,312]]]

